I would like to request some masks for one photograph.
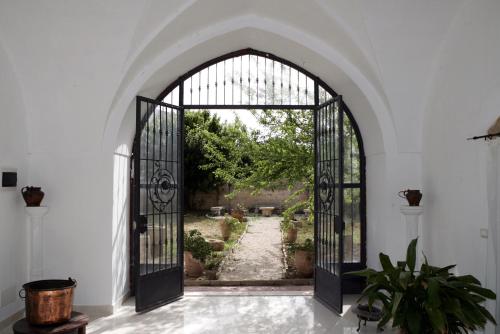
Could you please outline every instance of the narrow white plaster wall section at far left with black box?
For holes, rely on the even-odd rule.
[[[28,182],[28,131],[14,68],[0,43],[0,171],[17,170],[18,187],[0,188],[0,321],[19,311],[27,279],[27,221],[20,189]]]

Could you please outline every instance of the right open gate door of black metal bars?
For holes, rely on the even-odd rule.
[[[342,313],[343,132],[342,97],[321,104],[314,113],[314,296]]]

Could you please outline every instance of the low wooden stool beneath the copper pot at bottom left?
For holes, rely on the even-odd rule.
[[[78,331],[78,334],[85,334],[89,323],[89,317],[83,313],[71,313],[71,319],[68,322],[58,325],[35,326],[30,325],[26,318],[17,321],[12,329],[14,334],[64,334]]]

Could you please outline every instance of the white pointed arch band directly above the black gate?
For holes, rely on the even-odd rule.
[[[394,124],[387,105],[357,67],[321,39],[283,22],[255,15],[219,22],[164,48],[156,57],[149,57],[147,65],[142,70],[137,70],[137,75],[122,85],[124,87],[115,99],[108,118],[104,144],[111,145],[108,147],[114,145],[121,121],[138,92],[144,93],[148,89],[151,92],[149,95],[154,96],[153,93],[160,92],[167,84],[196,65],[249,46],[275,53],[320,76],[346,97],[362,131],[366,130],[370,134],[367,129],[371,128],[372,135],[378,133],[382,137],[383,145],[380,139],[376,140],[376,136],[368,138],[374,144],[368,150],[372,153],[397,151]],[[363,122],[363,117],[370,120]],[[381,145],[376,147],[376,143]]]

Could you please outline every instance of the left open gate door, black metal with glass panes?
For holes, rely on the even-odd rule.
[[[137,97],[134,148],[135,309],[182,296],[182,108]]]

